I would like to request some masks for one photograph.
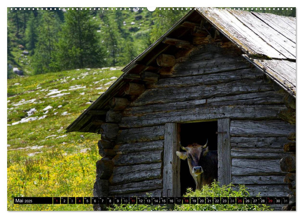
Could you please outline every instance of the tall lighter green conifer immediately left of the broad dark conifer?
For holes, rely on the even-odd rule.
[[[53,12],[43,12],[38,26],[38,41],[33,55],[34,73],[52,71],[55,45],[58,39],[60,23]]]

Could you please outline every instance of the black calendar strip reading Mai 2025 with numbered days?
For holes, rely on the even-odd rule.
[[[289,197],[14,197],[14,204],[289,204]]]

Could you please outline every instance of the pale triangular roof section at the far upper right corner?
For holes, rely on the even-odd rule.
[[[258,12],[252,12],[252,14],[261,19],[268,26],[271,26],[271,28],[275,29],[281,35],[296,43],[296,29],[291,27],[288,22],[281,22],[280,18],[276,17],[274,14]],[[294,21],[294,23],[296,23],[296,21]]]

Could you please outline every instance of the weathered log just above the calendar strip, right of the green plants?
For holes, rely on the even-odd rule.
[[[286,197],[290,193],[287,184],[245,185],[245,187],[250,196],[257,196],[260,192],[261,197]]]

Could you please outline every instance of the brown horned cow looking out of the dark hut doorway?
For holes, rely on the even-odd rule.
[[[218,180],[218,152],[209,151],[208,140],[204,146],[193,143],[180,148],[186,152],[177,151],[180,159],[188,161],[190,174],[196,182],[196,189],[201,189],[203,185],[210,185],[214,179]]]

